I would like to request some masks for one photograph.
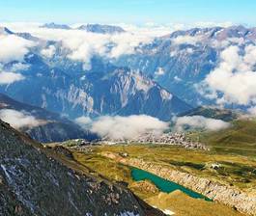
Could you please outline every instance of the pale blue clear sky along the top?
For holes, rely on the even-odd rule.
[[[0,0],[0,21],[256,25],[255,0]]]

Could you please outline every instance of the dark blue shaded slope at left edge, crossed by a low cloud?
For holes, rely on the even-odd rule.
[[[96,138],[96,135],[85,131],[76,123],[59,114],[15,101],[5,94],[0,94],[0,117],[10,121],[11,124],[14,123],[20,131],[26,132],[40,142]]]

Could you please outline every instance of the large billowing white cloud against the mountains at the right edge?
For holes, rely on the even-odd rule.
[[[256,72],[253,71],[256,46],[246,46],[244,55],[240,51],[238,46],[222,51],[219,66],[202,83],[204,89],[215,95],[217,103],[249,105],[256,102]]]

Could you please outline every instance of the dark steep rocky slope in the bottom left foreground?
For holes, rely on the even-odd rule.
[[[3,121],[0,140],[0,215],[164,215]]]

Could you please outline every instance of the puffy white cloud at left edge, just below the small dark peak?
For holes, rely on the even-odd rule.
[[[34,45],[29,40],[24,40],[14,35],[0,36],[0,62],[9,63],[12,61],[23,61],[24,55]]]

